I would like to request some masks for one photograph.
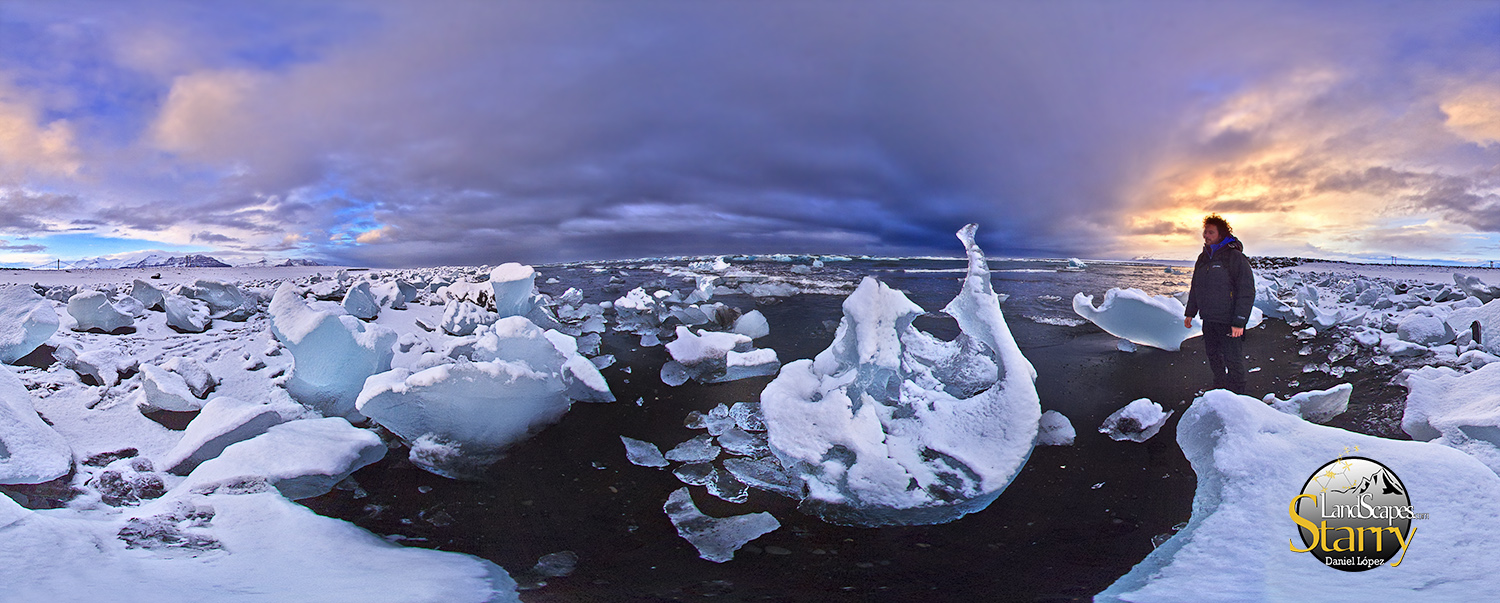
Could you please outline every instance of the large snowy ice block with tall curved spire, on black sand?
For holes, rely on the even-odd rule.
[[[1030,456],[1035,378],[990,286],[975,225],[951,342],[916,330],[922,309],[866,278],[832,345],[760,393],[771,450],[801,508],[844,525],[942,524],[987,507]]]

